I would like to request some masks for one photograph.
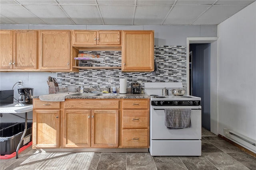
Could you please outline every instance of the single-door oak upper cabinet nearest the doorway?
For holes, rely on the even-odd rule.
[[[122,71],[154,71],[154,31],[123,31]]]

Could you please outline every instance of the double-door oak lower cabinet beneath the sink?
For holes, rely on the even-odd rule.
[[[76,109],[78,107],[79,109]],[[63,147],[117,148],[118,117],[118,100],[66,101],[63,116]]]

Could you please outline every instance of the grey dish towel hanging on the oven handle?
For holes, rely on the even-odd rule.
[[[167,129],[184,129],[191,127],[191,109],[164,109],[164,125]]]

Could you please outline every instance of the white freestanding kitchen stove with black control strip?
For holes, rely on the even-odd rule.
[[[182,88],[179,82],[145,82],[150,99],[150,154],[152,156],[201,156],[202,107],[196,96],[162,96],[162,89]],[[168,129],[164,125],[165,108],[190,108],[191,127]]]

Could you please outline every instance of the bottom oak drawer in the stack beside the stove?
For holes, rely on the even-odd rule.
[[[148,129],[123,130],[123,147],[148,147]]]

